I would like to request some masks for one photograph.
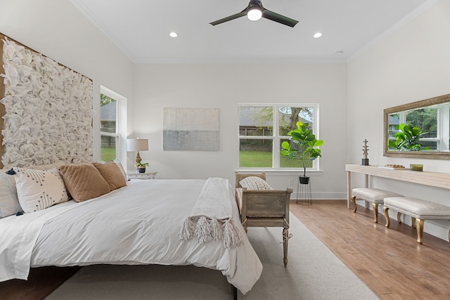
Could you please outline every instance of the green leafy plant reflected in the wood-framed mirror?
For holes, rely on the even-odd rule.
[[[418,126],[410,124],[399,124],[398,130],[394,133],[395,141],[389,141],[389,147],[399,151],[420,151],[428,150],[428,147],[422,147],[420,144],[420,136],[428,133],[420,130]]]

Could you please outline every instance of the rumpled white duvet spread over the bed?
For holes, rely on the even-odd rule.
[[[233,222],[243,244],[226,249],[221,240],[179,239],[204,183],[136,180],[94,200],[0,219],[0,280],[26,279],[30,266],[193,264],[221,270],[245,294],[259,279],[262,263],[240,226],[232,188]]]

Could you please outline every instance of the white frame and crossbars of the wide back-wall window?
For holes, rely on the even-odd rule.
[[[273,107],[273,127],[271,136],[241,136],[240,135],[240,119],[239,112],[240,107]],[[303,168],[299,165],[298,168],[287,168],[280,167],[280,151],[281,151],[281,140],[290,139],[290,136],[279,136],[279,108],[280,107],[313,107],[313,126],[312,131],[316,136],[319,137],[319,103],[238,103],[238,166],[240,159],[240,140],[243,139],[255,139],[262,140],[267,139],[272,141],[272,167],[238,167],[239,170],[262,170],[262,171],[303,171]],[[312,161],[312,167],[307,168],[307,171],[320,171],[320,157]]]

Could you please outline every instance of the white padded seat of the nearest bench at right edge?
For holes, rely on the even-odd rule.
[[[450,220],[450,207],[413,197],[387,197],[385,207],[416,219]]]

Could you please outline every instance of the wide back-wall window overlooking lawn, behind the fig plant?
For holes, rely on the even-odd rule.
[[[288,141],[288,132],[297,121],[309,123],[319,139],[318,104],[249,104],[239,110],[239,168],[299,169],[296,159],[280,154],[281,143]],[[319,159],[309,169],[319,169]]]

